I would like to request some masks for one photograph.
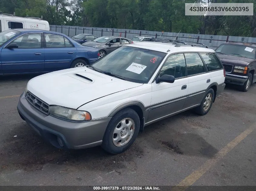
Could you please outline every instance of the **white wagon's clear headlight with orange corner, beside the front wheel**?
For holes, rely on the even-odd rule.
[[[62,119],[68,119],[72,121],[91,120],[91,114],[86,111],[78,111],[60,106],[50,106],[50,114]]]

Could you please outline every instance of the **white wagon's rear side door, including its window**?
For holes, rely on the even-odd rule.
[[[188,76],[188,95],[183,108],[188,108],[201,103],[212,80],[198,53],[185,53],[184,55]]]

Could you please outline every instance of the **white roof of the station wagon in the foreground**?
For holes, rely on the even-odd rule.
[[[213,49],[198,47],[198,46],[190,46],[190,45],[182,45],[180,47],[175,47],[175,44],[171,43],[162,43],[162,42],[140,42],[127,44],[124,46],[132,46],[142,49],[155,50],[163,53],[178,53],[178,52],[212,52],[215,51]]]

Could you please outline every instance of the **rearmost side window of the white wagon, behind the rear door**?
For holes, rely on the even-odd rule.
[[[218,70],[222,68],[221,62],[214,53],[200,53],[208,71]]]

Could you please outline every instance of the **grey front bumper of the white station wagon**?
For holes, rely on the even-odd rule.
[[[24,93],[20,96],[17,110],[45,141],[57,148],[82,149],[101,145],[111,117],[95,119],[88,122],[70,122],[45,115],[26,100]],[[57,137],[64,146],[58,144]]]

